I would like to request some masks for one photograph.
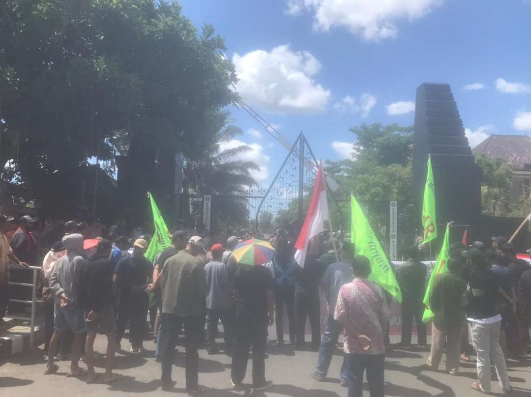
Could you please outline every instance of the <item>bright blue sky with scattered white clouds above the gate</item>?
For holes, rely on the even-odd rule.
[[[322,159],[348,156],[350,126],[412,125],[422,82],[451,85],[472,145],[531,131],[529,0],[180,3],[196,26],[210,22],[225,38],[243,100],[289,141],[303,131]],[[287,151],[230,111],[267,185]]]

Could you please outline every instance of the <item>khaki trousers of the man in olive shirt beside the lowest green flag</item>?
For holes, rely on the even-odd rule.
[[[442,353],[446,347],[446,370],[447,372],[459,372],[459,352],[461,350],[461,333],[463,326],[449,328],[447,330],[439,330],[435,323],[432,323],[432,346],[430,357],[428,357],[427,365],[434,370],[439,369],[441,363]]]

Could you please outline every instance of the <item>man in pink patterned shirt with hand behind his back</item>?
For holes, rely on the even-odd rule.
[[[369,259],[356,256],[352,271],[355,279],[341,287],[334,315],[345,328],[344,350],[352,378],[348,396],[362,397],[366,372],[371,397],[384,397],[383,330],[389,320],[389,309],[382,289],[367,280],[371,274]]]

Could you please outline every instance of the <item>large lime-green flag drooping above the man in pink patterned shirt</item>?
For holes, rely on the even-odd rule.
[[[383,253],[383,249],[374,235],[371,225],[369,225],[365,214],[354,196],[350,196],[350,206],[352,208],[350,239],[354,243],[356,255],[366,256],[371,261],[371,275],[369,276],[369,280],[379,284],[380,287],[401,302],[402,293],[398,287],[391,263]]]

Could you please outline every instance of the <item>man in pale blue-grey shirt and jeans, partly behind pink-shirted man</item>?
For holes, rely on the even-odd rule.
[[[349,241],[345,242],[341,248],[341,257],[341,262],[332,263],[327,267],[321,282],[321,289],[328,301],[327,327],[326,330],[324,330],[323,340],[321,341],[321,346],[319,348],[317,367],[315,368],[315,372],[311,375],[312,378],[319,382],[324,381],[324,378],[327,377],[333,351],[336,348],[339,333],[342,330],[342,325],[334,320],[333,316],[336,310],[339,290],[342,286],[353,280],[352,258],[354,257],[354,244]],[[341,366],[341,386],[347,386],[347,379],[349,376],[348,371],[348,360],[345,356]]]

